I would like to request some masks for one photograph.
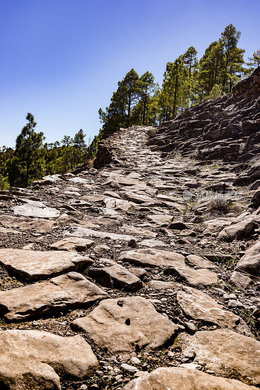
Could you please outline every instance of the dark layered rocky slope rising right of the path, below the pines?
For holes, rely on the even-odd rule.
[[[232,94],[207,100],[162,123],[150,137],[152,150],[196,159],[247,161],[260,153],[260,67]]]

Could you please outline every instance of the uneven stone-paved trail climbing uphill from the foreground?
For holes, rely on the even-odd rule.
[[[1,389],[260,388],[260,192],[236,184],[260,161],[165,158],[153,131],[1,192]]]

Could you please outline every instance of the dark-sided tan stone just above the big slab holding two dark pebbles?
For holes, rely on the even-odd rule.
[[[103,286],[110,286],[115,289],[137,291],[143,287],[139,277],[119,264],[104,268],[90,268],[88,274],[94,280],[98,280]]]

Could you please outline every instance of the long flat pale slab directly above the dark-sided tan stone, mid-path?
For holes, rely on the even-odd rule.
[[[122,252],[118,260],[143,267],[185,266],[185,257],[182,254],[151,248]]]

